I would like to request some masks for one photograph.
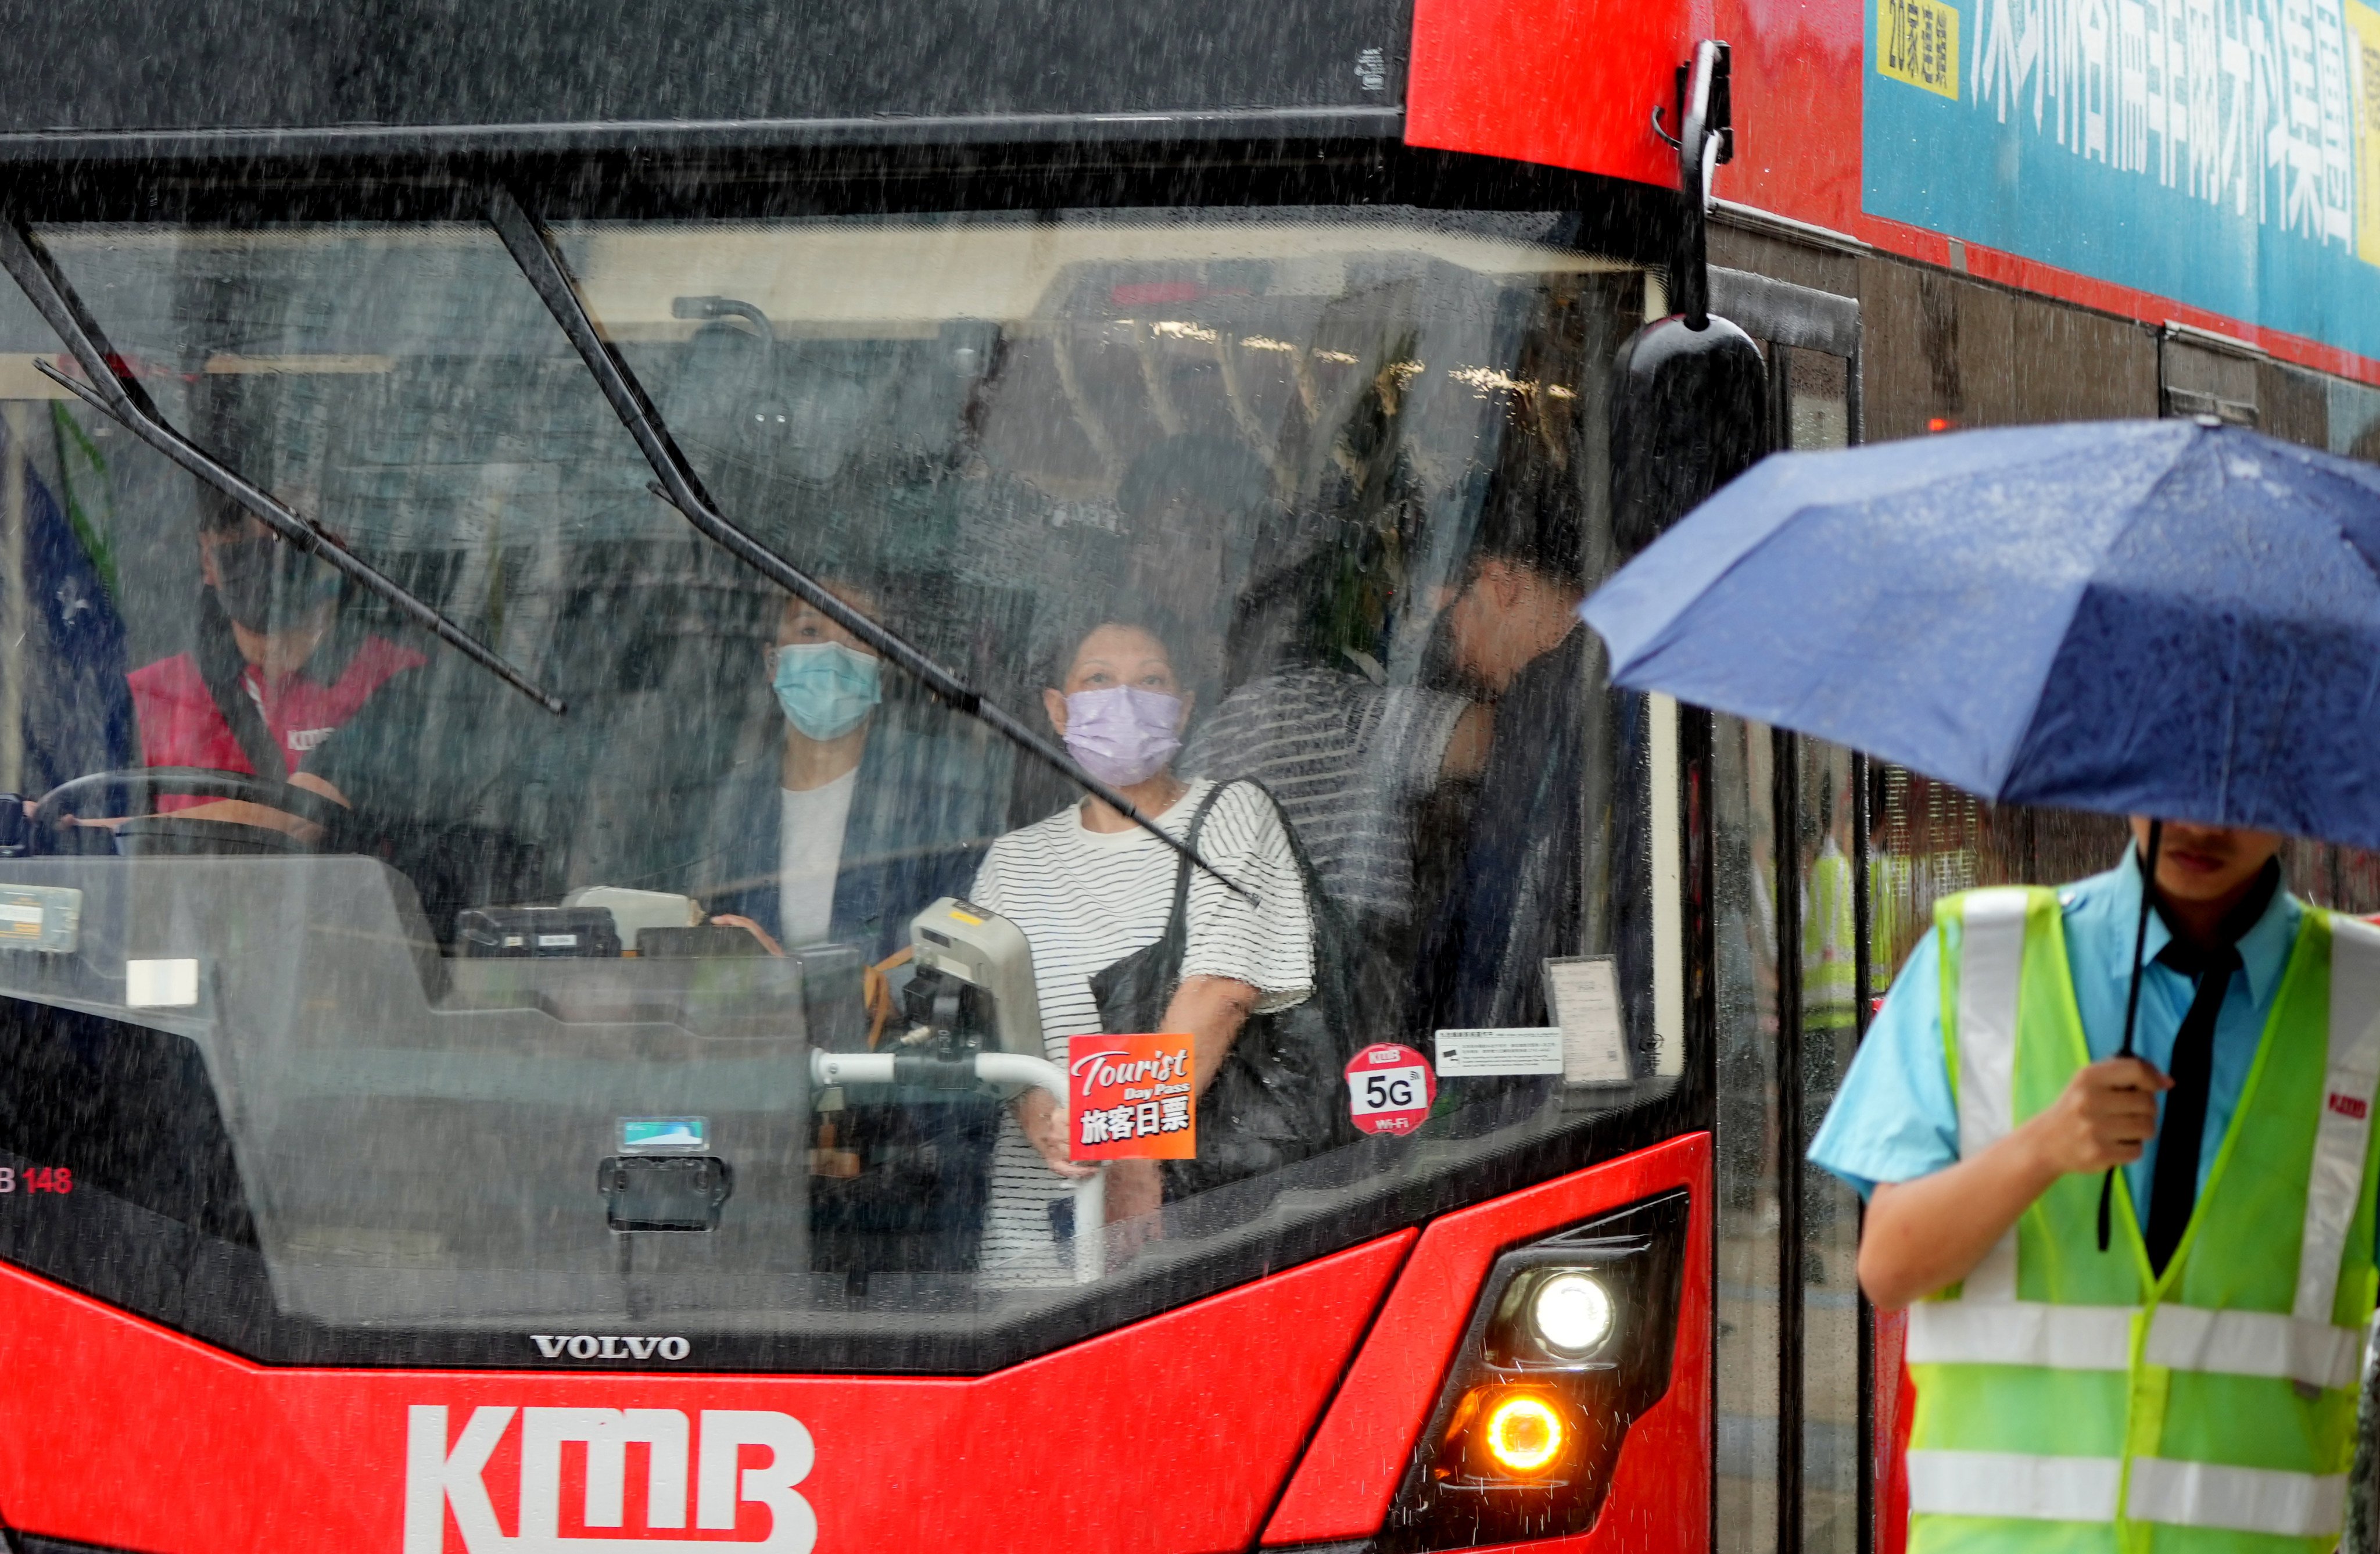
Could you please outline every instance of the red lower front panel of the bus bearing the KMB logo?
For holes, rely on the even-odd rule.
[[[583,1521],[590,1452],[569,1442],[585,1433],[538,1459],[545,1480],[521,1449],[524,1409],[647,1409],[624,1418],[683,1416],[688,1464],[709,1430],[752,1418],[778,1442],[807,1430],[816,1452],[800,1473],[745,1445],[743,1537],[704,1547],[807,1547],[778,1542],[788,1528],[750,1487],[776,1471],[826,1549],[1245,1549],[1414,1237],[969,1380],[281,1371],[0,1268],[0,1518],[150,1554],[490,1554],[540,1492],[559,1537],[650,1547],[645,1447],[619,1530]],[[466,1435],[497,1425],[495,1449],[457,1468]],[[474,1502],[493,1511],[478,1540],[457,1518]],[[688,1492],[693,1516],[700,1502]]]

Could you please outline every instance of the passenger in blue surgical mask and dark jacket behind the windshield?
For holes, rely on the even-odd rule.
[[[883,619],[873,590],[828,590]],[[912,914],[966,888],[997,833],[1007,757],[973,723],[900,697],[897,671],[807,600],[785,600],[752,669],[774,702],[774,759],[738,764],[697,895],[714,923],[771,947],[847,942],[881,959]]]

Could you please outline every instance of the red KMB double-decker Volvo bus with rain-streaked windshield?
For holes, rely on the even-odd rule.
[[[2059,64],[2166,10],[24,7],[10,1544],[1897,1547],[1799,1154],[2111,835],[1576,604],[1773,447],[2370,452],[2368,107],[2228,183]]]

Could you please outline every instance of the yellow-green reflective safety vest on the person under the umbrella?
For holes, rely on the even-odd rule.
[[[1973,1159],[2090,1064],[2052,890],[1937,909]],[[2373,1314],[2380,930],[2306,909],[2240,1107],[2161,1278],[2123,1173],[2056,1180],[1909,1309],[1909,1554],[2313,1554],[2337,1542]]]

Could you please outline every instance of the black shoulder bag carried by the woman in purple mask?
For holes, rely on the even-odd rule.
[[[1245,781],[1245,778],[1242,778]],[[1207,812],[1226,790],[1216,783],[1190,816],[1197,847]],[[1292,1161],[1357,1140],[1347,1121],[1347,1059],[1364,1045],[1366,990],[1395,985],[1395,973],[1376,966],[1378,950],[1347,921],[1321,888],[1297,831],[1261,783],[1247,783],[1273,804],[1280,831],[1297,859],[1314,923],[1314,995],[1276,1014],[1250,1014],[1223,1057],[1214,1083],[1197,1102],[1197,1159],[1164,1161],[1166,1199],[1278,1171]],[[1173,869],[1173,916],[1164,935],[1145,950],[1090,978],[1100,1002],[1100,1028],[1109,1033],[1164,1030],[1166,1007],[1183,980],[1190,938],[1190,861]]]

